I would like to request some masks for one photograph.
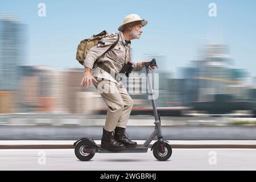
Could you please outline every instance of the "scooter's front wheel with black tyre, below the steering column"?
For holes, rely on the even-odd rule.
[[[163,148],[161,148],[161,147],[163,147]],[[159,143],[153,148],[153,154],[156,159],[164,161],[171,157],[172,148],[171,148],[170,144],[168,144],[166,142],[164,142],[163,145]]]

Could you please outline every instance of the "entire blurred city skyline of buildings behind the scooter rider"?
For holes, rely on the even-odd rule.
[[[93,87],[83,89],[80,85],[83,69],[80,67],[56,71],[49,66],[23,65],[23,24],[15,16],[1,16],[0,19],[0,113],[14,111],[47,113],[93,113],[104,109],[104,102]],[[21,43],[21,44],[20,44]],[[248,110],[255,100],[254,85],[249,84],[246,71],[232,66],[229,48],[225,45],[208,44],[197,51],[197,59],[191,67],[185,67],[184,78],[175,78],[166,65],[167,57],[161,54],[144,54],[146,59],[156,58],[159,67],[154,74],[156,104],[159,107],[201,106],[211,103],[210,113],[216,113],[217,102],[243,103],[236,109]],[[13,63],[13,64],[10,64]],[[10,73],[15,73],[10,75]],[[144,69],[138,73],[144,74]],[[131,91],[134,107],[148,107],[150,98],[145,97],[140,76],[130,75],[122,82]],[[156,80],[155,80],[156,78]],[[126,83],[125,83],[126,80]],[[129,83],[129,84],[128,84]],[[126,85],[128,84],[128,85]],[[134,92],[134,84],[139,88]],[[13,87],[16,86],[16,88]],[[156,87],[155,87],[156,86]],[[146,90],[145,90],[146,91]],[[135,93],[135,94],[133,94]],[[158,97],[159,96],[159,97]],[[203,104],[203,105],[201,105]],[[227,103],[221,113],[234,109]],[[84,109],[86,105],[86,109]],[[236,110],[235,109],[235,110]],[[138,111],[138,110],[137,110]],[[220,112],[220,111],[218,111]]]

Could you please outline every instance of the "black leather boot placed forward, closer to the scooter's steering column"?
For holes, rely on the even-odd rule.
[[[125,135],[125,129],[122,127],[115,127],[115,139],[118,140],[118,142],[121,142],[125,144],[125,147],[127,148],[134,148],[137,146],[136,142],[131,141],[128,137]]]

